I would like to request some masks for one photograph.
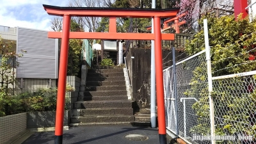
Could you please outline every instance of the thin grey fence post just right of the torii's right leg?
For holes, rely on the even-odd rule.
[[[177,98],[177,77],[176,77],[176,61],[175,61],[175,47],[172,47],[172,65],[173,65],[173,93],[175,95],[175,114],[176,114],[176,138],[179,138],[179,124],[178,124],[178,98]]]

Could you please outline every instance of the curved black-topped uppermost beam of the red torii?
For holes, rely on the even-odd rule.
[[[176,17],[180,8],[152,9],[152,8],[95,8],[95,7],[60,7],[43,4],[49,15],[71,17],[138,17],[138,18],[170,18]]]

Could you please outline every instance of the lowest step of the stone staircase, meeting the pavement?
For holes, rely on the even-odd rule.
[[[133,115],[86,115],[73,116],[71,123],[108,123],[108,122],[134,122]]]

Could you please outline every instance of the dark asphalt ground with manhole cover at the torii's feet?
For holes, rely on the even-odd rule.
[[[125,138],[129,134],[133,135],[128,139]],[[144,137],[136,134],[141,134]],[[34,143],[54,143],[54,132],[35,132],[22,144]],[[151,127],[136,127],[132,125],[82,126],[70,127],[68,131],[64,131],[63,143],[156,144],[159,143],[159,135],[158,130]]]

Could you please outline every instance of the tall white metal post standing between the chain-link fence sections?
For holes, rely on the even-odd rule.
[[[214,132],[214,109],[212,102],[212,69],[211,69],[211,55],[209,47],[209,38],[208,38],[208,28],[207,28],[207,19],[204,19],[204,38],[205,38],[205,54],[207,61],[207,76],[208,76],[208,88],[209,88],[209,107],[210,107],[210,120],[211,120],[211,143],[215,144],[215,132]]]

